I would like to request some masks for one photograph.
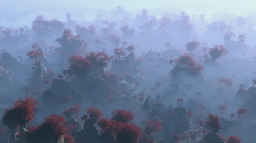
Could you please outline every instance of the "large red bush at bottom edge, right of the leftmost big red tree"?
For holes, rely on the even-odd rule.
[[[67,134],[67,129],[65,128],[67,122],[64,117],[60,115],[49,115],[45,118],[44,123],[41,123],[37,129],[28,132],[28,142],[48,142],[56,143],[58,138],[62,135]]]

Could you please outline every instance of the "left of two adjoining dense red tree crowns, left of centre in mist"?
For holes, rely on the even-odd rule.
[[[71,56],[70,70],[73,71],[79,78],[86,78],[91,69],[92,64],[88,59],[79,55]]]

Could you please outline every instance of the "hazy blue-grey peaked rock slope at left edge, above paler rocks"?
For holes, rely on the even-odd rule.
[[[0,58],[0,64],[2,67],[10,71],[19,71],[25,69],[24,64],[20,63],[17,59],[11,56],[8,52],[5,52]]]

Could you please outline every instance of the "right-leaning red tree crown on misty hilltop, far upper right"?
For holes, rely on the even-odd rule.
[[[214,48],[210,48],[209,51],[209,55],[213,58],[213,59],[218,59],[221,56],[225,56],[227,55],[228,51],[227,49],[224,48],[223,45],[215,45]]]

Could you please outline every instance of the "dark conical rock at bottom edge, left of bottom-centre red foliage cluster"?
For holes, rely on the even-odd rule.
[[[92,119],[87,119],[84,123],[83,131],[79,136],[78,143],[99,143],[100,133],[94,126]]]

